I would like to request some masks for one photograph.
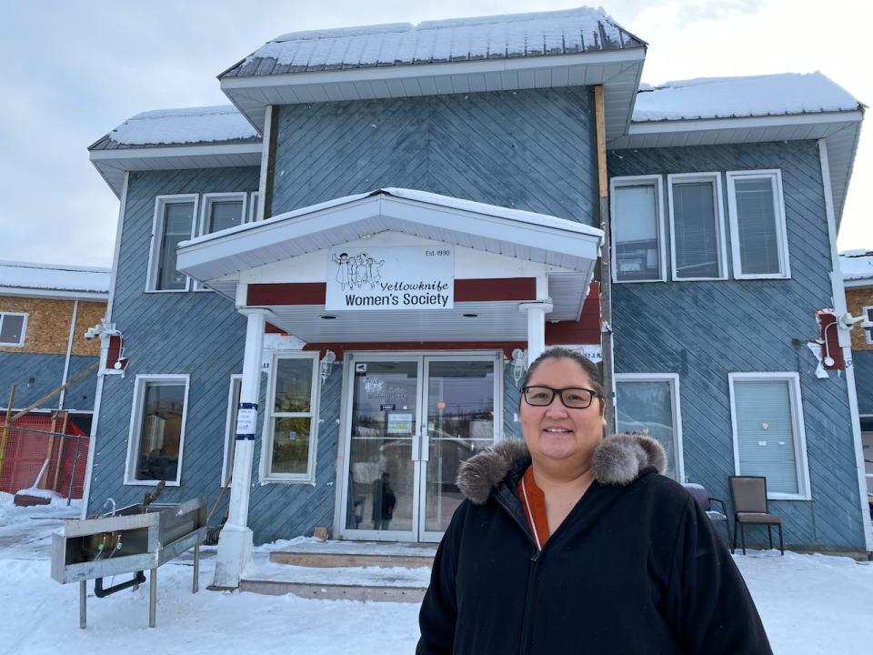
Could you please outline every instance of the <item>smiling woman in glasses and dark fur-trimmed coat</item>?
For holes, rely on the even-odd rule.
[[[531,364],[524,442],[471,459],[437,550],[416,653],[770,653],[706,514],[652,438],[603,438],[597,369]]]

